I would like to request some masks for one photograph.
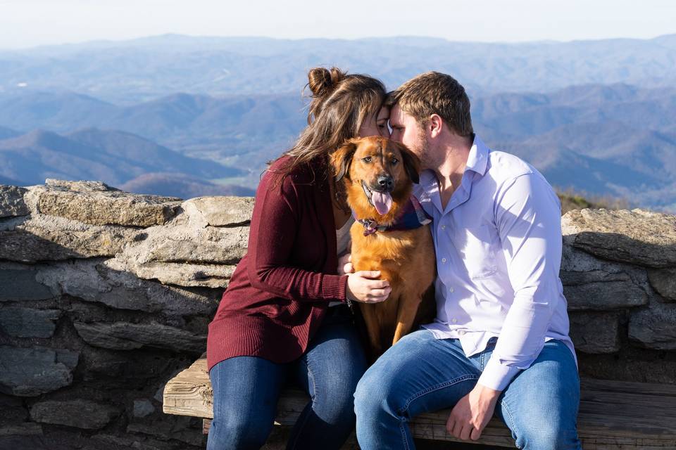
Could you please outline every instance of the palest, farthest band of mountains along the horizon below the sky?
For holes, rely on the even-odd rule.
[[[676,82],[675,35],[656,39],[480,44],[444,39],[268,39],[175,34],[0,52],[0,92],[72,90],[118,104],[173,94],[298,92],[307,70],[337,65],[390,88],[427,70],[477,94],[572,84]]]

